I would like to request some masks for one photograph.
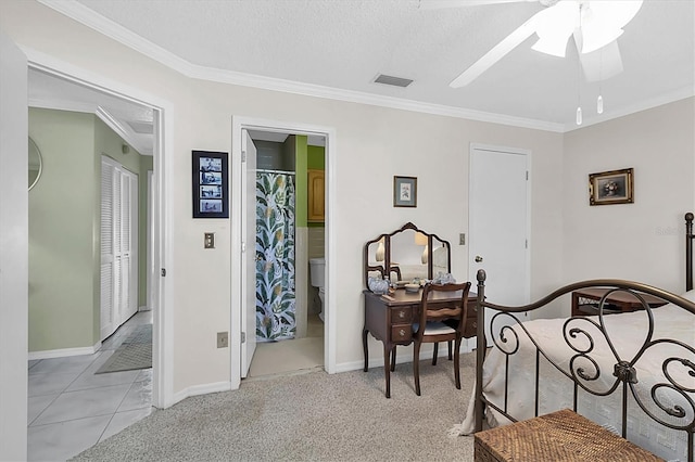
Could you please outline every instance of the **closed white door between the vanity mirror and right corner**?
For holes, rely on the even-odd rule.
[[[485,297],[498,305],[529,301],[528,158],[527,152],[471,146],[468,273],[475,290],[478,270],[485,270]]]

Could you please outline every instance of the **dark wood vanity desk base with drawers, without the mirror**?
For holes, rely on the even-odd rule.
[[[367,347],[367,334],[383,343],[383,373],[386,376],[386,396],[391,397],[391,352],[396,345],[409,345],[413,342],[413,322],[417,320],[422,290],[417,293],[408,293],[399,288],[394,294],[377,295],[370,291],[365,294],[365,325],[362,330],[362,344],[365,352],[365,372],[369,370],[369,350]],[[455,294],[458,294],[456,297]],[[460,292],[454,296],[446,293],[432,294],[431,300],[451,301],[460,297]],[[476,300],[475,293],[468,293],[468,318],[464,331],[464,337],[476,336]]]

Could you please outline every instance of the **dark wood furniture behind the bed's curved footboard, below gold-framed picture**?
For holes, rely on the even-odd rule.
[[[598,301],[608,291],[610,291],[610,288],[590,287],[572,292],[572,316],[598,315]],[[652,308],[667,304],[667,301],[661,298],[657,298],[652,295],[640,295]],[[639,309],[643,309],[642,301],[640,301],[634,295],[623,291],[614,292],[606,297],[606,301],[604,304],[605,315],[629,312]]]

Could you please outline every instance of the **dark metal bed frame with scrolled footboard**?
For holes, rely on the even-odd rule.
[[[685,214],[685,277],[686,277],[686,290],[690,291],[693,288],[693,240],[695,236],[693,235],[693,214]],[[628,437],[628,398],[631,396],[634,398],[634,401],[639,405],[640,408],[655,422],[664,425],[667,428],[671,428],[674,431],[685,432],[687,435],[687,460],[688,462],[694,462],[694,434],[695,434],[695,378],[690,384],[680,383],[672,378],[669,374],[668,370],[672,367],[680,367],[687,371],[688,377],[695,377],[695,345],[687,345],[678,339],[668,339],[668,338],[654,338],[654,329],[655,329],[655,320],[653,316],[653,308],[644,300],[644,298],[640,295],[649,294],[656,297],[659,297],[666,301],[672,303],[680,308],[690,311],[693,316],[695,316],[695,304],[688,301],[675,294],[664,291],[658,287],[654,287],[647,284],[632,282],[632,281],[623,281],[623,280],[614,280],[614,279],[601,279],[601,280],[590,280],[577,282],[573,284],[565,285],[549,295],[543,297],[542,299],[518,307],[511,306],[501,306],[490,303],[485,299],[485,272],[484,270],[479,270],[477,274],[478,280],[478,301],[477,301],[477,310],[478,310],[478,325],[477,325],[477,341],[478,348],[476,355],[476,376],[483,376],[483,364],[485,360],[485,355],[488,351],[488,347],[498,348],[503,351],[505,356],[505,389],[504,389],[504,402],[495,405],[488,400],[483,394],[483,381],[476,381],[476,399],[475,399],[475,424],[476,432],[480,432],[483,428],[483,418],[485,408],[492,408],[496,410],[498,413],[509,419],[511,422],[517,422],[515,419],[507,412],[507,392],[509,383],[507,380],[509,378],[509,358],[515,355],[519,349],[519,335],[527,335],[528,338],[532,342],[535,347],[535,415],[539,415],[539,387],[540,376],[539,376],[539,368],[541,363],[541,358],[545,359],[545,362],[552,364],[557,369],[561,374],[564,374],[567,378],[573,382],[573,410],[577,411],[578,403],[578,393],[580,389],[587,392],[590,394],[596,396],[609,396],[612,395],[614,392],[621,394],[621,436],[627,439]],[[572,350],[572,357],[569,359],[569,371],[567,369],[563,369],[559,364],[554,362],[548,354],[543,350],[541,346],[536,343],[534,338],[531,337],[529,332],[527,331],[523,323],[519,321],[519,319],[515,316],[515,313],[522,313],[528,311],[533,311],[538,308],[541,308],[553,300],[556,300],[558,297],[561,297],[567,294],[571,294],[573,291],[586,288],[586,287],[603,287],[608,288],[606,295],[598,301],[598,316],[591,318],[583,317],[574,317],[568,318],[563,323],[563,336],[564,339]],[[633,294],[637,300],[641,301],[643,309],[646,311],[646,316],[648,318],[648,332],[645,335],[645,339],[641,346],[637,348],[637,352],[631,355],[630,358],[621,358],[614,347],[612,341],[608,335],[608,331],[604,325],[604,316],[616,316],[616,315],[606,315],[604,313],[604,304],[606,297],[608,297],[614,292],[627,292]],[[491,341],[493,345],[488,345],[485,341],[484,333],[484,308],[492,308],[500,312],[495,313],[491,318]],[[654,308],[658,309],[658,308]],[[517,329],[511,329],[508,324],[503,325],[497,330],[497,332],[492,332],[493,326],[495,325],[495,319],[498,317],[505,317],[507,321],[511,321]],[[591,331],[594,332],[594,335],[601,335],[603,338],[594,338],[587,329],[582,328],[582,323],[591,323]],[[597,333],[596,333],[597,332]],[[584,343],[579,345],[577,338],[584,339]],[[616,362],[614,364],[612,370],[610,371],[602,371],[598,363],[592,358],[592,354],[594,352],[595,346],[598,344],[598,339],[601,343],[607,343],[608,346],[612,349],[614,357],[616,358]],[[637,376],[637,372],[633,365],[635,362],[644,355],[645,351],[650,348],[661,345],[661,344],[671,344],[677,345],[682,348],[683,355],[682,357],[665,357],[661,362],[661,369],[665,374],[667,381],[665,383],[659,383],[650,388],[650,402],[644,402],[643,399],[637,395],[635,390],[635,385],[639,382],[640,377]],[[504,348],[502,347],[504,345]],[[589,345],[589,346],[585,346]],[[482,347],[481,347],[482,346]],[[688,357],[686,357],[688,356]],[[659,357],[659,361],[661,358]],[[603,375],[602,375],[603,374]],[[595,381],[598,377],[606,376],[612,381],[612,386],[608,390],[596,390],[592,389],[592,383],[596,383]],[[514,384],[514,380],[511,380],[511,385]],[[679,394],[683,399],[681,401],[685,402],[687,407],[678,406],[669,406],[659,398],[658,394],[661,388],[668,388],[671,393]],[[656,406],[656,408],[655,408]],[[672,420],[677,420],[678,423],[666,422],[660,416],[656,415],[652,410],[659,409],[664,414],[669,415]]]

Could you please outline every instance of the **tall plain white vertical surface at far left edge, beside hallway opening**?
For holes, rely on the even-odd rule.
[[[0,460],[26,460],[28,141],[26,57],[0,30]]]

